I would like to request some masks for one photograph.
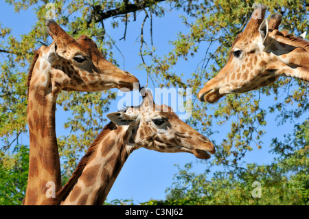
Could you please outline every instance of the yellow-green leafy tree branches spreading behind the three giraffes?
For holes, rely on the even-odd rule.
[[[56,21],[65,27],[73,37],[86,34],[98,44],[108,60],[117,65],[113,51],[117,49],[115,38],[110,37],[104,25],[111,23],[114,28],[122,28],[126,39],[128,23],[141,21],[139,37],[140,59],[137,60],[140,69],[147,72],[147,77],[155,87],[187,87],[196,94],[203,83],[216,76],[227,62],[229,48],[238,33],[244,30],[253,11],[255,1],[51,1],[54,3]],[[260,1],[258,1],[260,2]],[[32,30],[18,39],[10,27],[0,26],[0,135],[1,161],[12,146],[19,147],[19,137],[27,133],[27,98],[25,81],[27,69],[32,60],[32,51],[41,45],[49,45],[50,39],[45,32],[47,2],[41,1],[8,1],[14,5],[16,12],[34,8],[36,21]],[[263,1],[268,12],[279,12],[283,15],[280,30],[286,29],[295,35],[301,34],[308,28],[307,19],[309,4],[305,0],[297,1]],[[152,34],[152,21],[164,17],[165,12],[179,10],[182,12],[183,24],[187,32],[179,32],[175,41],[171,42],[173,49],[165,55],[158,54],[158,48],[152,37],[149,42],[143,37],[144,29]],[[270,15],[268,13],[268,15]],[[266,15],[266,16],[268,16]],[[148,26],[145,21],[150,20]],[[137,25],[137,24],[136,24]],[[152,36],[152,35],[151,35]],[[127,43],[134,43],[128,42]],[[163,45],[164,46],[164,45]],[[192,66],[191,72],[175,73],[175,68],[191,58],[201,57],[199,64]],[[184,75],[181,75],[184,73]],[[282,126],[308,115],[308,82],[281,78],[269,87],[244,94],[227,95],[218,104],[201,103],[193,99],[192,117],[188,119],[192,126],[215,141],[216,154],[211,166],[223,166],[217,177],[229,176],[229,183],[237,180],[248,172],[250,166],[244,165],[244,156],[251,150],[262,148],[264,126],[268,124],[266,117],[275,115],[277,124]],[[64,111],[72,112],[65,122],[69,135],[58,137],[58,146],[62,159],[63,175],[67,176],[76,166],[77,154],[84,151],[98,135],[99,127],[105,123],[103,115],[108,111],[116,95],[112,91],[96,93],[62,92],[58,97],[58,106]],[[264,99],[272,100],[264,102]],[[10,121],[10,123],[8,123]],[[308,120],[306,120],[308,121]],[[308,126],[302,121],[298,126],[303,127],[308,139]],[[308,122],[307,122],[308,124]],[[223,139],[216,139],[218,130],[229,127]],[[290,135],[297,139],[301,135]],[[301,137],[300,137],[301,138]],[[303,136],[304,138],[304,136]],[[284,140],[273,140],[276,152],[286,147]],[[299,141],[292,150],[308,150],[308,140]],[[285,150],[284,150],[285,151]],[[3,155],[2,155],[3,154]],[[308,153],[303,154],[308,158]],[[280,161],[275,161],[279,163]],[[279,165],[279,164],[278,164]],[[206,172],[210,171],[207,168]],[[187,170],[188,171],[188,170]],[[180,176],[183,176],[180,174]],[[221,178],[222,178],[221,177]],[[201,179],[201,178],[200,178]],[[215,182],[215,181],[214,181]],[[26,183],[26,182],[25,182]],[[203,180],[201,179],[203,184]],[[177,191],[179,185],[176,186]],[[242,185],[243,186],[243,185]],[[241,186],[240,186],[241,187]],[[209,187],[208,187],[209,188]],[[183,190],[185,191],[185,190]],[[204,192],[204,194],[207,194]],[[214,194],[208,193],[209,196]],[[176,198],[186,196],[173,194]],[[201,194],[196,194],[196,197]],[[219,198],[220,199],[220,198]],[[218,202],[220,203],[220,202]]]

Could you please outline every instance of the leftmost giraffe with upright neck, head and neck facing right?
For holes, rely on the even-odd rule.
[[[24,205],[43,205],[49,187],[56,192],[62,187],[55,130],[58,93],[139,87],[139,80],[105,60],[88,36],[75,40],[55,21],[45,25],[53,43],[35,51],[27,80],[30,161]]]

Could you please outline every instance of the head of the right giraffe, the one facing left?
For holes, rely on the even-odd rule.
[[[199,100],[213,103],[226,94],[252,91],[277,80],[282,67],[278,57],[296,47],[275,40],[282,16],[274,14],[268,23],[265,12],[266,7],[258,4],[245,30],[236,36],[225,67],[198,92]]]

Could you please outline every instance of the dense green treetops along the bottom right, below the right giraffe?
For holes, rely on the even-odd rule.
[[[249,163],[209,178],[209,169],[196,174],[189,163],[175,174],[167,200],[143,205],[309,205],[308,130],[306,120],[295,125],[295,136],[286,136],[284,143],[274,139],[272,151],[278,157],[268,165]],[[254,182],[261,185],[260,198],[253,198]]]

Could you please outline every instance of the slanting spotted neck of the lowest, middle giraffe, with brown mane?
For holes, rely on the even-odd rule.
[[[132,130],[110,123],[90,146],[76,172],[62,188],[60,205],[102,205],[133,146]],[[58,203],[57,203],[58,204]]]

